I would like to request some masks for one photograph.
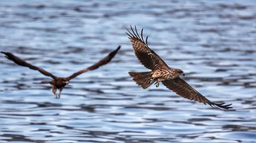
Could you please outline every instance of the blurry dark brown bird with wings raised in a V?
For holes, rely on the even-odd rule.
[[[105,65],[105,64],[108,64],[112,58],[114,58],[114,56],[116,55],[117,51],[120,49],[120,45],[117,47],[116,50],[112,51],[111,53],[109,53],[109,55],[105,56],[105,58],[101,59],[99,62],[95,63],[94,65],[86,68],[86,69],[83,69],[83,70],[80,70],[78,72],[75,72],[73,73],[71,76],[68,76],[68,77],[57,77],[51,73],[49,73],[48,71],[40,68],[40,67],[36,67],[34,65],[31,65],[29,63],[27,63],[26,61],[18,58],[17,56],[13,55],[12,53],[10,52],[3,52],[1,51],[1,53],[4,53],[6,56],[7,59],[13,61],[14,63],[16,63],[17,65],[19,66],[24,66],[24,67],[28,67],[32,70],[37,70],[39,71],[41,74],[44,74],[46,76],[50,76],[51,78],[53,78],[53,80],[51,81],[42,81],[42,82],[39,82],[41,84],[47,84],[47,83],[50,83],[52,85],[52,92],[53,94],[56,96],[56,98],[60,98],[60,94],[61,94],[61,91],[63,90],[63,88],[69,84],[69,81],[73,78],[75,78],[76,76],[84,73],[84,72],[87,72],[87,71],[90,71],[90,70],[95,70],[97,68],[99,68],[100,66],[102,65]],[[59,93],[57,94],[57,89],[59,90]]]

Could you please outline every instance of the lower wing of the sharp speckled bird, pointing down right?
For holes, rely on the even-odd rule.
[[[194,88],[192,88],[185,80],[183,80],[180,77],[177,77],[175,79],[170,80],[164,80],[162,81],[166,88],[169,90],[172,90],[176,94],[187,98],[189,100],[195,100],[200,103],[209,104],[211,107],[220,107],[224,109],[230,109],[232,107],[229,107],[231,104],[224,105],[225,103],[214,103],[208,100],[206,97],[204,97],[202,94],[200,94],[198,91],[196,91]]]

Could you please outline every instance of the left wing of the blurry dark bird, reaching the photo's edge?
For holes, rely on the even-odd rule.
[[[32,69],[32,70],[37,70],[37,71],[39,71],[40,73],[42,73],[42,74],[44,74],[44,75],[46,75],[46,76],[52,77],[53,79],[56,78],[56,76],[54,76],[53,74],[49,73],[48,71],[46,71],[46,70],[44,70],[44,69],[42,69],[42,68],[33,66],[33,65],[31,65],[31,64],[29,64],[29,63],[27,63],[27,62],[25,62],[24,60],[18,58],[17,56],[13,55],[13,54],[10,53],[10,52],[3,52],[3,51],[1,51],[1,52],[6,55],[5,57],[6,57],[7,59],[13,61],[14,63],[16,63],[16,64],[19,65],[19,66],[24,66],[24,67],[28,67],[28,68],[30,68],[30,69]]]

